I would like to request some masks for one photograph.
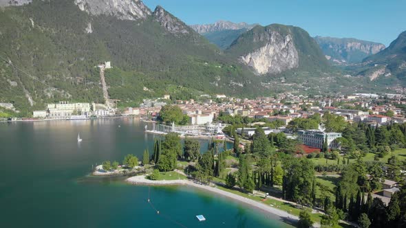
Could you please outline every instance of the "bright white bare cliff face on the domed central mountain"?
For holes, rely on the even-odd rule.
[[[242,62],[253,67],[259,74],[281,73],[299,67],[299,54],[292,36],[281,36],[272,32],[264,47],[240,57]]]

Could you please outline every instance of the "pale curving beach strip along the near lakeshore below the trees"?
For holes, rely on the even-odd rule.
[[[281,220],[289,220],[290,222],[297,223],[299,221],[299,217],[289,214],[288,212],[285,212],[281,209],[277,209],[275,207],[270,207],[269,205],[266,205],[264,203],[260,203],[257,201],[254,201],[250,198],[246,198],[244,196],[239,196],[237,194],[233,194],[231,192],[226,192],[224,190],[220,190],[216,187],[211,187],[209,185],[200,185],[197,183],[194,183],[193,181],[189,180],[174,180],[174,181],[151,181],[149,179],[145,179],[145,175],[142,176],[131,176],[127,179],[125,179],[125,182],[130,183],[132,185],[153,185],[153,186],[165,186],[165,185],[187,185],[191,187],[195,187],[199,190],[205,190],[206,192],[212,192],[212,193],[217,193],[220,196],[224,196],[229,199],[233,199],[235,201],[238,201],[239,203],[244,203],[245,205],[248,205],[250,207],[253,207],[255,209],[259,209],[262,212],[268,212],[270,214],[273,214],[276,217],[279,217]],[[314,224],[316,225],[316,224]]]

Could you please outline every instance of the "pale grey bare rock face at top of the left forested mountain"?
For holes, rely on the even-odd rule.
[[[136,21],[151,15],[140,0],[75,0],[75,4],[88,14],[116,16],[120,20]]]

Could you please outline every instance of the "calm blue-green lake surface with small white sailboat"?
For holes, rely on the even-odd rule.
[[[92,164],[151,153],[156,136],[144,126],[132,118],[0,123],[0,227],[290,227],[193,187],[87,176]]]

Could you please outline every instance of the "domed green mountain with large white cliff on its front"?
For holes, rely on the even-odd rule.
[[[295,26],[257,25],[239,36],[226,53],[239,58],[259,75],[328,68],[319,45],[308,32]]]

